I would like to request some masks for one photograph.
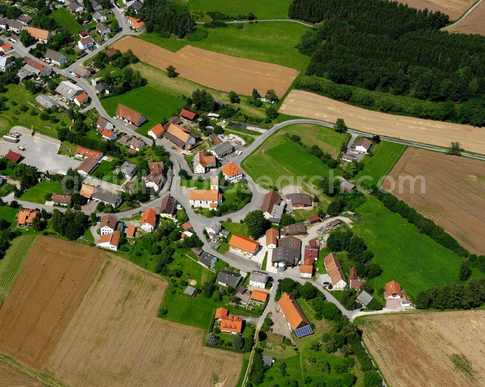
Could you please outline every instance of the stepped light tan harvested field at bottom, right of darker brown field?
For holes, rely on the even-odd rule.
[[[204,347],[204,329],[156,317],[165,289],[159,276],[108,259],[46,371],[70,387],[236,386],[242,355]]]

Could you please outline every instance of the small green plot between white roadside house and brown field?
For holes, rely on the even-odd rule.
[[[365,164],[365,167],[357,174],[356,179],[370,176],[372,180],[363,180],[362,184],[365,186],[377,184],[379,179],[386,176],[394,167],[394,164],[399,160],[405,149],[406,146],[403,144],[388,141],[381,141],[377,145],[372,145],[373,156],[364,157],[362,162]]]

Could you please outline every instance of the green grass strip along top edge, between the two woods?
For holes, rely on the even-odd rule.
[[[236,18],[252,12],[259,19],[287,19],[288,8],[291,4],[291,0],[176,0],[176,2],[186,5],[191,12],[219,11]]]

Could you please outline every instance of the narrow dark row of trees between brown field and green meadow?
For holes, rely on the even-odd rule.
[[[371,186],[371,189],[373,196],[382,201],[389,210],[401,215],[407,219],[409,223],[414,224],[420,232],[428,235],[431,239],[445,248],[449,248],[456,254],[462,257],[468,256],[469,252],[462,247],[453,236],[445,232],[442,227],[436,225],[433,220],[423,217],[418,211],[404,203],[404,201],[399,200],[394,195],[382,192],[377,189],[376,186]]]

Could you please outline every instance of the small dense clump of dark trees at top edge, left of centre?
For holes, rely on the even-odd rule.
[[[146,0],[137,17],[144,19],[146,31],[162,36],[183,38],[195,30],[195,22],[186,7],[165,0]]]

